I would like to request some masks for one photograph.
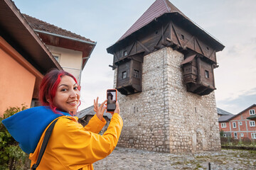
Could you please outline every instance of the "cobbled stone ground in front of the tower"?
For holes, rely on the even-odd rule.
[[[93,164],[100,169],[254,169],[256,152],[222,149],[221,152],[168,154],[116,147],[107,158]]]

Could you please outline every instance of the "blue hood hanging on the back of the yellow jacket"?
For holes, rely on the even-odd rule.
[[[43,131],[55,118],[71,116],[65,112],[58,113],[60,114],[54,113],[48,106],[39,106],[18,112],[4,119],[2,123],[21,149],[29,154],[35,151]]]

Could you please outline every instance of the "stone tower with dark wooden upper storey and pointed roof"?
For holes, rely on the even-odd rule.
[[[224,46],[156,0],[107,52],[124,119],[120,147],[220,150],[213,69]]]

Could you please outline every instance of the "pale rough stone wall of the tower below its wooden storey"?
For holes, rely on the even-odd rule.
[[[186,91],[183,55],[165,47],[144,56],[142,93],[118,95],[124,128],[118,145],[159,152],[220,150],[215,95]],[[116,84],[116,74],[114,84]]]

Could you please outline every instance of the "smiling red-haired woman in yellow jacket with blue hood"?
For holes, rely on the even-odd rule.
[[[43,106],[29,108],[3,120],[21,149],[29,153],[31,166],[36,163],[46,129],[58,119],[50,135],[38,170],[93,169],[92,163],[109,155],[117,145],[122,130],[119,104],[112,114],[107,131],[104,127],[105,100],[100,106],[94,100],[96,114],[82,127],[75,113],[80,105],[80,86],[73,75],[54,69],[43,78],[39,100]]]

